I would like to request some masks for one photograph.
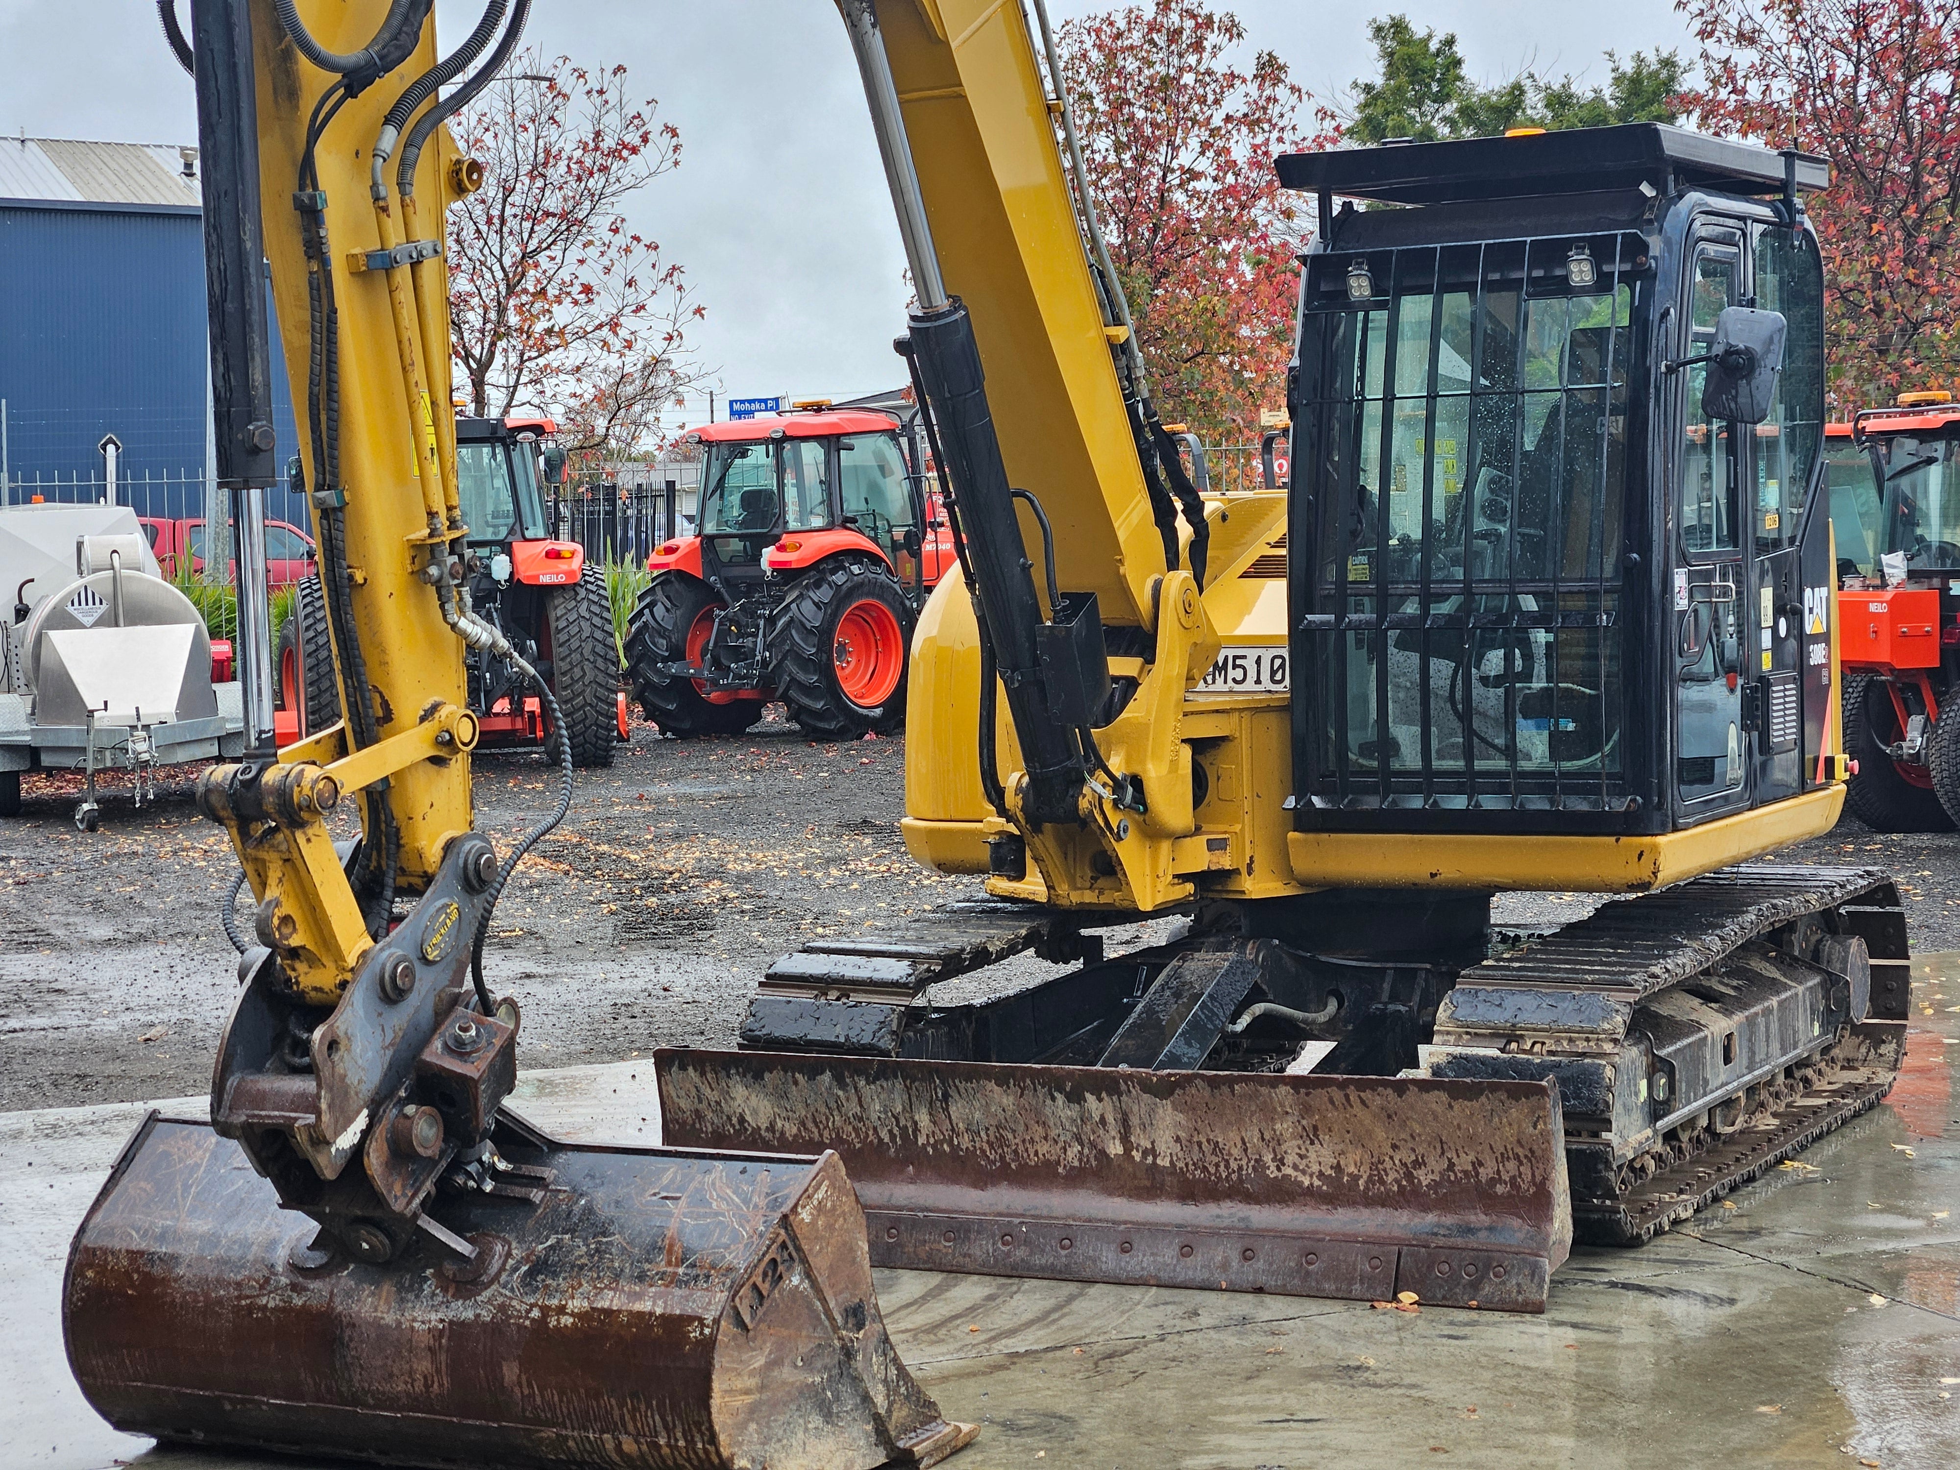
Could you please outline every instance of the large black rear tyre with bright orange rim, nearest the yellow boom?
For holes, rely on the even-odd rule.
[[[913,621],[878,563],[817,563],[790,586],[768,619],[768,666],[804,735],[851,741],[906,723]]]

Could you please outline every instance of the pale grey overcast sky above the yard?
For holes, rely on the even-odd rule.
[[[1456,31],[1486,80],[1533,67],[1603,82],[1609,49],[1693,55],[1672,0],[1225,4],[1250,45],[1280,53],[1319,96],[1372,73],[1366,16],[1378,10]],[[1051,0],[1056,20],[1103,8]],[[437,2],[451,39],[478,14],[472,0]],[[890,343],[904,327],[904,255],[831,0],[539,0],[527,39],[580,63],[623,63],[633,90],[680,127],[682,167],[629,216],[686,267],[708,310],[692,343],[721,394],[843,398],[900,380]],[[131,143],[198,135],[190,78],[151,0],[0,0],[0,127]],[[706,404],[686,417],[706,417]]]

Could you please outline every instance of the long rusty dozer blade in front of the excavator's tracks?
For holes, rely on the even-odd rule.
[[[1543,1311],[1558,1092],[659,1051],[670,1145],[835,1151],[878,1266]]]

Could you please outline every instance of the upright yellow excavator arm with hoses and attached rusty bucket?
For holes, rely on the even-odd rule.
[[[898,1360],[835,1154],[582,1147],[508,1107],[484,925],[572,774],[561,739],[555,809],[502,855],[474,831],[465,649],[563,719],[466,594],[443,212],[482,174],[443,118],[529,0],[449,55],[431,10],[192,0],[186,37],[161,4],[198,88],[220,478],[272,482],[276,316],[343,719],[198,782],[257,943],[208,1117],[153,1113],[76,1235],[76,1380],[120,1429],[282,1452],[931,1464],[976,1431]]]

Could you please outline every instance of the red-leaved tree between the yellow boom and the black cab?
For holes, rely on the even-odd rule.
[[[1299,221],[1272,161],[1307,147],[1305,92],[1270,51],[1250,71],[1231,12],[1152,0],[1056,33],[1090,192],[1166,419],[1252,439],[1280,408]]]

